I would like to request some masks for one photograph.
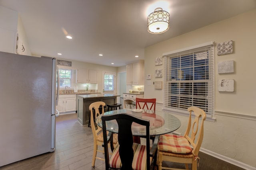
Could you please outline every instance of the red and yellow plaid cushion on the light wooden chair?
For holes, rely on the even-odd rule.
[[[188,140],[183,136],[165,134],[160,136],[159,150],[187,154],[192,152]]]

